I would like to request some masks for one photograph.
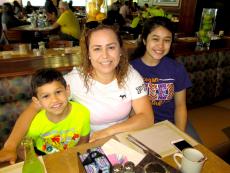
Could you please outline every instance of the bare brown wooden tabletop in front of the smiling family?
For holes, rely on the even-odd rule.
[[[77,152],[84,153],[87,149],[101,146],[109,138],[96,141],[94,143],[83,144],[66,151],[46,155],[43,157],[46,169],[48,173],[83,173],[84,169],[80,160],[77,157]],[[201,151],[208,160],[205,162],[201,173],[229,173],[230,166],[224,162],[221,158],[216,156],[213,152],[208,150],[201,144],[198,144],[194,148]],[[163,161],[176,168],[176,163],[173,161],[172,155],[163,158]]]

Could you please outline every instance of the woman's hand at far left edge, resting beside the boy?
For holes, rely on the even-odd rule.
[[[15,164],[17,159],[16,149],[3,148],[0,150],[0,162],[9,161],[10,164]]]

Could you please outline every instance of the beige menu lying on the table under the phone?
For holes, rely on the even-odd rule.
[[[171,144],[171,141],[185,139],[192,146],[198,144],[193,138],[179,130],[174,124],[167,120],[156,123],[152,127],[144,130],[116,135],[117,139],[121,143],[143,153],[139,147],[135,146],[127,140],[128,134],[144,143],[147,147],[157,152],[162,157],[166,157],[177,152],[176,148]]]

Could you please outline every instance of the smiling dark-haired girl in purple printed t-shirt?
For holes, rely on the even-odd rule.
[[[143,76],[155,114],[155,121],[169,120],[185,131],[187,125],[186,88],[191,81],[184,66],[167,54],[173,40],[173,25],[164,17],[147,20],[141,42],[131,61]],[[197,139],[195,132],[188,132]]]

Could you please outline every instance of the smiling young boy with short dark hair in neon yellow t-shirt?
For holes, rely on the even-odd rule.
[[[32,100],[42,110],[27,132],[35,149],[49,154],[65,150],[89,139],[89,110],[68,101],[69,87],[62,74],[54,69],[37,71],[31,79]]]

